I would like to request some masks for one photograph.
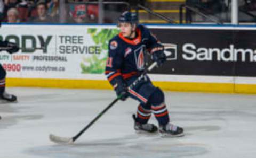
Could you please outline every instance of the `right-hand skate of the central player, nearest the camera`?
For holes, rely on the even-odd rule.
[[[161,137],[181,137],[184,136],[183,128],[175,126],[173,124],[167,124],[165,126],[159,125],[159,134]]]

